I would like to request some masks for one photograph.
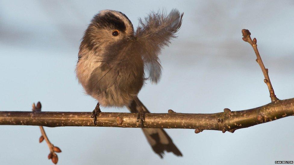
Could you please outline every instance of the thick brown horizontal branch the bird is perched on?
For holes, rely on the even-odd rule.
[[[294,98],[278,100],[261,107],[242,111],[230,111],[213,114],[146,113],[145,128],[184,128],[202,130],[221,130],[234,132],[237,129],[274,121],[294,115]],[[34,125],[46,127],[92,126],[91,112],[0,112],[0,125]],[[99,127],[140,128],[136,122],[136,113],[101,112],[97,117]]]

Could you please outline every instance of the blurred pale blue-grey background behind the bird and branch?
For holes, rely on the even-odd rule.
[[[74,72],[84,30],[103,9],[123,12],[134,27],[150,11],[184,12],[178,38],[160,56],[163,76],[145,84],[139,98],[151,112],[216,113],[255,108],[271,101],[252,47],[258,49],[279,99],[294,97],[293,1],[0,1],[0,111],[90,112]],[[103,112],[128,112],[102,108]],[[141,129],[45,127],[67,164],[274,164],[293,160],[293,117],[221,133],[169,129],[183,157],[153,153]],[[0,126],[0,162],[48,164],[39,127]]]

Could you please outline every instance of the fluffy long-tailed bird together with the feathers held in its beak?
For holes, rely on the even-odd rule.
[[[139,18],[135,31],[122,12],[99,11],[81,39],[75,70],[85,93],[98,101],[91,115],[94,124],[99,120],[100,106],[127,107],[138,113],[137,122],[141,122],[147,141],[161,158],[165,151],[177,156],[182,153],[163,129],[144,128],[145,113],[150,112],[138,93],[146,81],[159,82],[162,66],[158,56],[177,38],[182,17],[177,9],[169,14],[151,11],[144,19]]]

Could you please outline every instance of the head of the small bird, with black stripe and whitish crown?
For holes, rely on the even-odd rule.
[[[82,38],[80,49],[100,51],[109,44],[133,38],[133,24],[125,14],[114,10],[102,10],[92,18]]]

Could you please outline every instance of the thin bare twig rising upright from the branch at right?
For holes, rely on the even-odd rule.
[[[275,102],[275,101],[279,100],[277,98],[277,96],[275,95],[273,86],[271,85],[271,80],[270,80],[270,78],[268,76],[268,69],[266,69],[264,67],[264,64],[263,64],[263,62],[261,60],[260,54],[258,52],[257,44],[256,44],[256,42],[257,42],[256,38],[253,38],[253,40],[252,40],[251,37],[250,37],[251,33],[247,29],[242,29],[242,34],[243,34],[242,39],[244,41],[248,42],[253,47],[253,50],[254,50],[254,52],[256,54],[256,57],[257,57],[256,62],[259,64],[259,66],[260,66],[260,68],[261,68],[261,70],[263,72],[264,82],[265,82],[265,84],[267,84],[268,90],[270,92],[271,102]]]

